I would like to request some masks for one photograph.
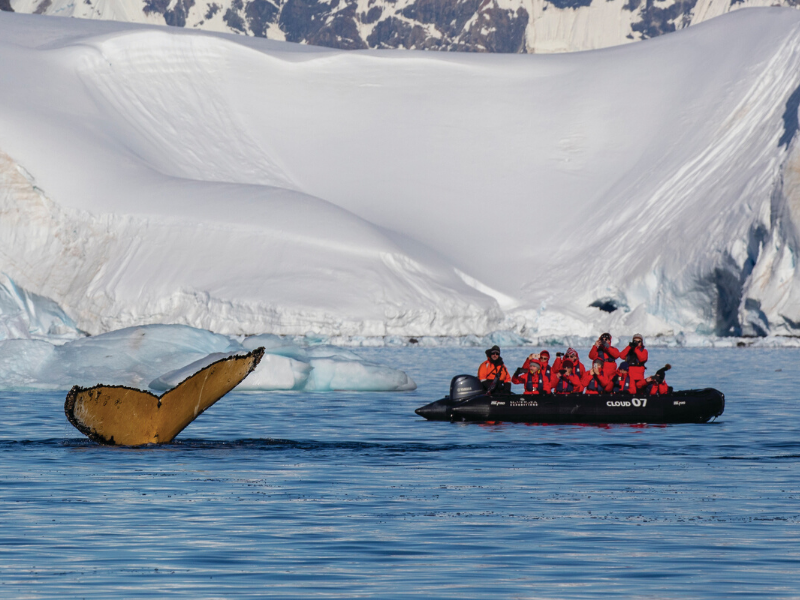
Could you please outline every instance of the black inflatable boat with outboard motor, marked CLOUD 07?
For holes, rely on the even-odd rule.
[[[659,396],[618,394],[489,395],[480,380],[458,375],[450,395],[418,408],[430,421],[512,423],[706,423],[725,410],[719,390],[684,390]]]

